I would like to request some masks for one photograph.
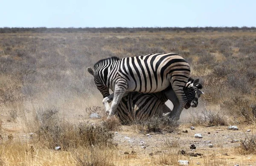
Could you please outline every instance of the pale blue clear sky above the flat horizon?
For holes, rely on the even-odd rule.
[[[0,0],[0,27],[256,26],[256,0]]]

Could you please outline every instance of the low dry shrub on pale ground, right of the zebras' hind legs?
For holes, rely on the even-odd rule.
[[[224,115],[220,115],[219,112],[213,112],[211,110],[205,109],[201,114],[195,112],[195,114],[190,114],[190,123],[192,126],[197,125],[207,125],[207,126],[224,126],[227,122]]]

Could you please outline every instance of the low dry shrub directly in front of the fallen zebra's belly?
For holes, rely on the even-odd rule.
[[[174,132],[177,131],[179,123],[169,117],[153,116],[145,120],[135,120],[133,125],[143,132]]]

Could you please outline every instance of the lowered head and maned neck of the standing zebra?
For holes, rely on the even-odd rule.
[[[87,68],[87,71],[93,75],[94,83],[97,86],[97,89],[103,97],[108,97],[109,94],[109,87],[108,87],[108,67],[111,66],[112,63],[118,61],[118,57],[110,57],[107,59],[99,60],[94,65],[94,70],[90,67]]]

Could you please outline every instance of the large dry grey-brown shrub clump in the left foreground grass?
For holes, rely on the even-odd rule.
[[[70,124],[61,120],[58,109],[38,109],[34,123],[37,124],[35,141],[41,142],[47,148],[53,149],[61,146],[61,149],[77,148],[79,146],[102,147],[112,146],[113,133],[102,126],[94,126],[90,123]]]

